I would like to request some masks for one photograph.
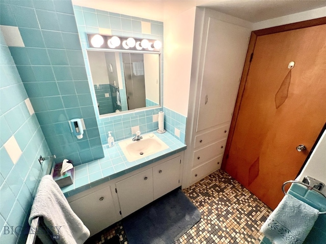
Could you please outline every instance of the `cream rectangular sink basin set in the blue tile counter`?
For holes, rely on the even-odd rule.
[[[153,133],[142,135],[143,139],[132,141],[131,138],[120,141],[119,145],[129,162],[158,153],[169,146]]]

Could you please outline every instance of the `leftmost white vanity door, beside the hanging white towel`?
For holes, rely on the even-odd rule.
[[[110,187],[78,198],[69,204],[90,230],[91,236],[120,220],[114,207]]]

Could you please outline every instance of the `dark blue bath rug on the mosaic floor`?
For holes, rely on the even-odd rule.
[[[180,190],[157,199],[123,220],[129,244],[172,244],[201,218]]]

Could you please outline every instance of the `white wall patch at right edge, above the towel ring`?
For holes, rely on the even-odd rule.
[[[326,131],[322,134],[307,164],[296,180],[302,181],[306,175],[326,185]],[[322,189],[322,192],[326,194],[326,187]]]

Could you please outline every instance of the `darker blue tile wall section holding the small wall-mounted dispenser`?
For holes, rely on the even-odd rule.
[[[25,47],[8,46],[56,162],[104,157],[71,1],[3,1],[1,11],[1,24],[19,28]],[[81,140],[72,118],[85,121]]]

